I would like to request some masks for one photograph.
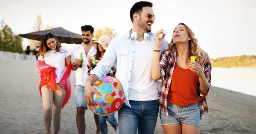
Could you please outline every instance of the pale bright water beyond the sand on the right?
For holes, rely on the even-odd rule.
[[[212,86],[256,96],[256,68],[213,67],[211,75]]]

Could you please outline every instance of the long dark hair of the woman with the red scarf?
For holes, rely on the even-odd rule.
[[[53,39],[56,40],[57,46],[56,46],[56,49],[55,49],[56,51],[55,51],[55,52],[60,52],[61,44],[58,42],[58,40],[55,38],[55,36],[54,36],[52,33],[46,33],[46,34],[42,37],[42,39],[41,39],[40,48],[39,48],[38,53],[36,54],[36,56],[40,56],[40,55],[41,55],[41,56],[43,56],[43,59],[44,59],[44,53],[47,52],[47,51],[49,51],[49,50],[51,50],[51,49],[47,46],[47,44],[46,44],[46,42],[47,42],[47,40],[48,40],[49,38],[53,38]]]

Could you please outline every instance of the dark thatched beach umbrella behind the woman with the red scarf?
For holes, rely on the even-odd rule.
[[[20,34],[19,36],[27,38],[27,39],[34,39],[41,41],[42,37],[46,33],[52,33],[60,43],[67,43],[67,44],[81,44],[83,40],[81,39],[81,35],[77,33],[73,33],[70,31],[67,31],[66,29],[62,27],[53,28],[50,30],[44,30],[44,31],[36,31],[32,33],[25,33]]]

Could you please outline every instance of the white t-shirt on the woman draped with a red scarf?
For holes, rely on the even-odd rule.
[[[43,56],[40,55],[38,60],[44,61],[46,64],[56,68],[56,83],[60,83],[60,80],[65,73],[65,58],[70,56],[71,51],[66,47],[60,47],[60,52],[55,51],[56,50],[48,50],[44,53],[44,59]]]

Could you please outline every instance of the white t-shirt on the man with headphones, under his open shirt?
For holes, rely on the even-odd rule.
[[[151,66],[154,50],[150,39],[139,42],[132,40],[135,56],[132,64],[131,80],[129,86],[129,100],[157,100],[158,85],[151,77]],[[146,53],[146,54],[145,54]]]

